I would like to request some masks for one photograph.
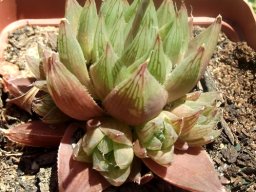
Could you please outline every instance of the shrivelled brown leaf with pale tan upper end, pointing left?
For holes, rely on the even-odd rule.
[[[28,92],[25,94],[15,97],[13,99],[9,99],[9,103],[13,103],[20,107],[21,109],[27,111],[28,113],[32,114],[31,109],[32,109],[32,103],[33,100],[36,97],[36,94],[38,93],[39,89],[36,87],[32,87]]]

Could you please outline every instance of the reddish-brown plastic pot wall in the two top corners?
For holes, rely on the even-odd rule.
[[[78,0],[83,4],[85,0]],[[181,0],[174,0],[180,4]],[[99,4],[101,0],[96,0]],[[161,1],[155,0],[157,4]],[[256,49],[256,16],[244,0],[186,0],[195,23],[209,25],[217,15],[222,15],[222,30],[233,41],[246,41]],[[65,0],[1,0],[0,31],[8,24],[20,19],[61,18],[64,15]]]

